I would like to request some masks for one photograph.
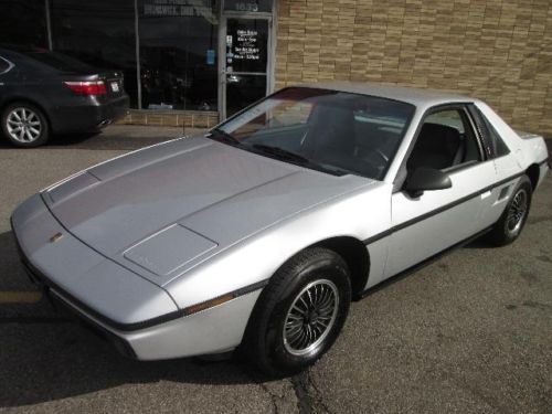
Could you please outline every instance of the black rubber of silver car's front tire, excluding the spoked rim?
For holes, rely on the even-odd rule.
[[[286,272],[286,269],[284,269]],[[315,363],[323,355],[338,338],[344,325],[351,301],[351,284],[349,270],[341,257],[331,251],[317,248],[311,257],[305,257],[293,266],[293,272],[283,277],[279,289],[273,290],[272,300],[266,300],[266,305],[261,318],[265,323],[261,323],[261,331],[256,335],[263,336],[257,346],[257,354],[261,357],[261,364],[257,365],[263,371],[270,374],[287,375],[301,371]],[[330,328],[330,332],[317,349],[309,355],[294,355],[284,347],[283,330],[287,311],[297,295],[310,283],[320,279],[332,282],[338,288],[339,305],[336,320]],[[270,302],[273,306],[270,306]]]

